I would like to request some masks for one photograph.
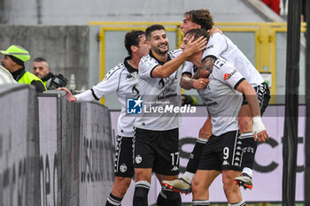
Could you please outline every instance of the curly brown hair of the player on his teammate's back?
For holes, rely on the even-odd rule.
[[[214,25],[210,11],[205,9],[187,11],[184,14],[184,17],[186,16],[190,17],[191,22],[200,25],[205,30],[211,29]]]

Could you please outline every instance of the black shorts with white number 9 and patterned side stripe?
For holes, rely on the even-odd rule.
[[[238,131],[212,135],[201,154],[198,170],[242,171],[242,147]]]

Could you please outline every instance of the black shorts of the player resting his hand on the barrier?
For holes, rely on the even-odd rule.
[[[114,174],[117,177],[134,177],[133,137],[116,136]]]

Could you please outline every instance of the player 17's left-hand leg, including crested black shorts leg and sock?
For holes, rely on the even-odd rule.
[[[134,167],[135,167],[135,193],[133,205],[147,206],[148,194],[151,187],[151,168],[154,164],[154,152],[151,147],[151,137],[156,131],[135,129],[134,137]]]

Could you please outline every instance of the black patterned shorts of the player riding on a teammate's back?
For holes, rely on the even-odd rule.
[[[270,91],[269,91],[268,85],[265,82],[261,83],[259,86],[255,87],[254,89],[256,91],[256,94],[257,94],[257,97],[260,103],[260,115],[263,116],[263,113],[265,112],[267,105],[269,103],[269,100],[270,100]],[[242,105],[248,104],[244,94],[243,96],[244,96],[244,102],[242,103]]]

